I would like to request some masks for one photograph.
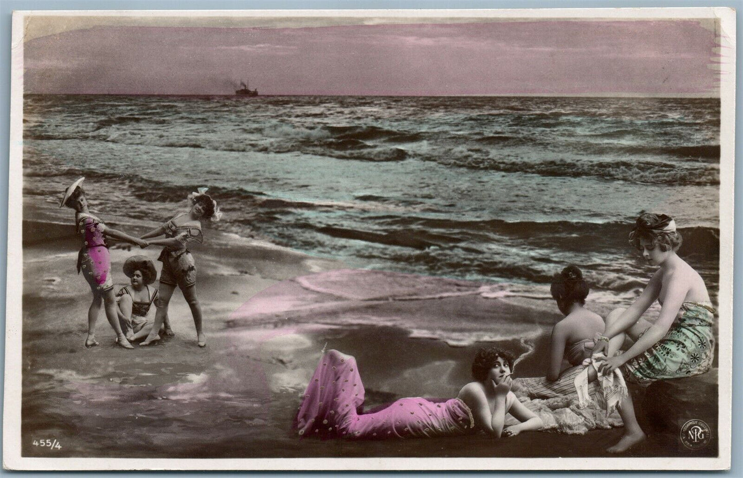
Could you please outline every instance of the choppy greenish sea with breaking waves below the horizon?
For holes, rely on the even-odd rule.
[[[652,275],[635,217],[663,212],[719,287],[719,99],[30,94],[23,122],[25,197],[54,207],[85,176],[91,210],[162,221],[204,186],[225,232],[542,291],[574,263],[611,304]]]

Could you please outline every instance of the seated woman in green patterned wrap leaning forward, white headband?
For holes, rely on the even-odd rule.
[[[629,309],[614,310],[606,318],[606,330],[593,350],[609,356],[600,371],[611,373],[618,368],[626,380],[639,383],[707,372],[715,350],[714,310],[701,276],[676,255],[681,235],[675,221],[666,215],[640,215],[629,242],[658,271]],[[641,315],[656,299],[661,313],[651,324]],[[615,356],[627,335],[635,343]],[[614,446],[617,451],[645,439],[637,422],[629,425],[625,420],[625,433]]]

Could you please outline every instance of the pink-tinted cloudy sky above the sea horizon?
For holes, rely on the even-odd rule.
[[[94,27],[25,43],[25,91],[230,94],[717,94],[695,21],[308,28]]]

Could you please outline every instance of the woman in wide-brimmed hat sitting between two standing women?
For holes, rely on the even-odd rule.
[[[147,326],[146,317],[158,298],[158,289],[150,287],[158,278],[158,272],[155,270],[155,264],[143,255],[133,255],[126,259],[123,269],[132,284],[119,289],[116,298],[119,304],[121,330],[131,342],[146,337],[152,330],[152,325]],[[165,335],[174,335],[167,315],[161,332]]]

